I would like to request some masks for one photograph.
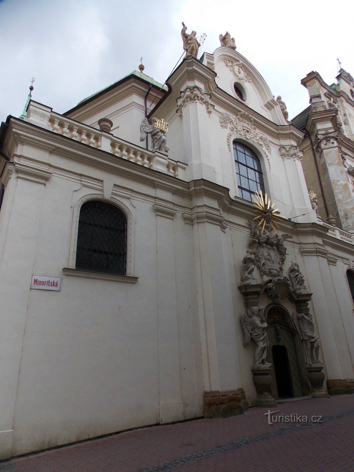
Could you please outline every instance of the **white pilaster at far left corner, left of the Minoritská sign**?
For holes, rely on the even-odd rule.
[[[34,263],[43,190],[51,177],[48,166],[16,158],[2,211],[7,232],[1,232],[0,299],[3,317],[0,344],[0,459],[11,455],[17,380],[21,363],[27,303]],[[2,227],[3,228],[3,227]]]

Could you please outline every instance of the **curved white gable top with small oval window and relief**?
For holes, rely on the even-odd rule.
[[[288,124],[266,81],[239,52],[220,47],[202,63],[216,72],[219,88],[278,125]]]

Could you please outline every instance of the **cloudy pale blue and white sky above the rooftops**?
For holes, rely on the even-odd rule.
[[[237,51],[282,95],[289,118],[308,106],[300,80],[332,84],[337,60],[354,75],[353,3],[322,0],[0,0],[0,121],[33,99],[63,113],[138,68],[163,83],[183,52],[181,21],[206,33],[203,52],[228,30]]]

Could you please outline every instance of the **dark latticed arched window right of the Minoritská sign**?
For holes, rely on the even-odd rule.
[[[82,205],[76,269],[126,274],[126,217],[117,207],[90,200]]]

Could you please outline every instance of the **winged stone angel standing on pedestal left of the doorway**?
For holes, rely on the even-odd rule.
[[[264,320],[263,307],[252,306],[242,313],[240,318],[242,328],[244,329],[244,346],[253,339],[256,349],[253,356],[253,369],[266,369],[269,362],[266,362],[268,347],[268,336],[266,328],[268,324]]]

